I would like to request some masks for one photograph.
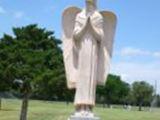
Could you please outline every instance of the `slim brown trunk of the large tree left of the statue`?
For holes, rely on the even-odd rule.
[[[28,102],[29,94],[26,93],[22,101],[20,120],[27,120]]]

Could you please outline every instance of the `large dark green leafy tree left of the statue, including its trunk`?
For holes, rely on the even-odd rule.
[[[51,92],[55,84],[64,88],[61,42],[53,36],[53,32],[38,28],[37,25],[13,28],[13,33],[14,36],[5,34],[0,39],[0,89],[9,90],[15,80],[22,81],[23,87],[18,89],[23,96],[20,120],[26,120],[31,93],[41,93],[49,87],[45,90],[53,96],[54,92]],[[63,92],[59,89],[55,92],[57,96]]]

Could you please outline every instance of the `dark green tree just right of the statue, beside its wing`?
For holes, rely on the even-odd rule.
[[[111,103],[124,104],[130,91],[128,83],[121,80],[120,76],[109,74],[105,86],[97,87],[97,101],[110,106]]]

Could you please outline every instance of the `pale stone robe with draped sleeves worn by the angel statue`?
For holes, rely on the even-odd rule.
[[[85,28],[83,35],[74,37],[75,49],[78,52],[75,105],[95,104],[99,42],[103,36],[102,17],[95,14],[93,13],[90,17],[91,20],[87,23],[89,25]],[[74,34],[83,29],[82,24],[86,21],[84,15],[85,11],[77,15]],[[97,28],[94,32],[91,22]]]

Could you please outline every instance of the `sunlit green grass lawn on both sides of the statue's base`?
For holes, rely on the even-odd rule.
[[[20,105],[20,100],[3,99],[0,120],[19,120]],[[29,103],[28,120],[67,120],[73,111],[72,104],[32,100]],[[94,112],[101,120],[160,120],[160,109],[139,112],[96,107]]]

